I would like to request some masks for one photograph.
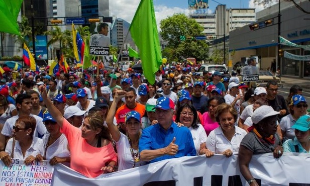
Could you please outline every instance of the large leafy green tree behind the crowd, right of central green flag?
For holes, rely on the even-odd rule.
[[[205,41],[180,40],[181,36],[194,38],[203,35],[203,27],[194,19],[190,19],[184,14],[175,14],[162,20],[160,29],[162,39],[167,42],[162,54],[168,61],[180,61],[187,57],[194,57],[200,61],[208,57],[208,45]]]

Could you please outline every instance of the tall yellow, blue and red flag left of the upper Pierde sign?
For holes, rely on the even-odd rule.
[[[79,33],[76,32],[73,22],[72,22],[72,38],[73,38],[73,51],[75,60],[77,63],[82,63],[84,57],[85,43],[82,40]]]

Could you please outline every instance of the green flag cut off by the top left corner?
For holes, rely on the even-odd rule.
[[[0,32],[21,35],[17,24],[17,17],[21,10],[23,0],[0,0]]]

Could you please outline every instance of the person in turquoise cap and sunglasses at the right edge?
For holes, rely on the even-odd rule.
[[[301,116],[292,128],[295,129],[295,137],[283,143],[284,152],[310,153],[310,116]]]

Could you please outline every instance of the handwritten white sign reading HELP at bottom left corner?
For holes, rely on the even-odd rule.
[[[0,161],[0,186],[49,186],[54,166],[49,161],[35,161],[25,165],[23,159],[12,158],[11,166]]]

